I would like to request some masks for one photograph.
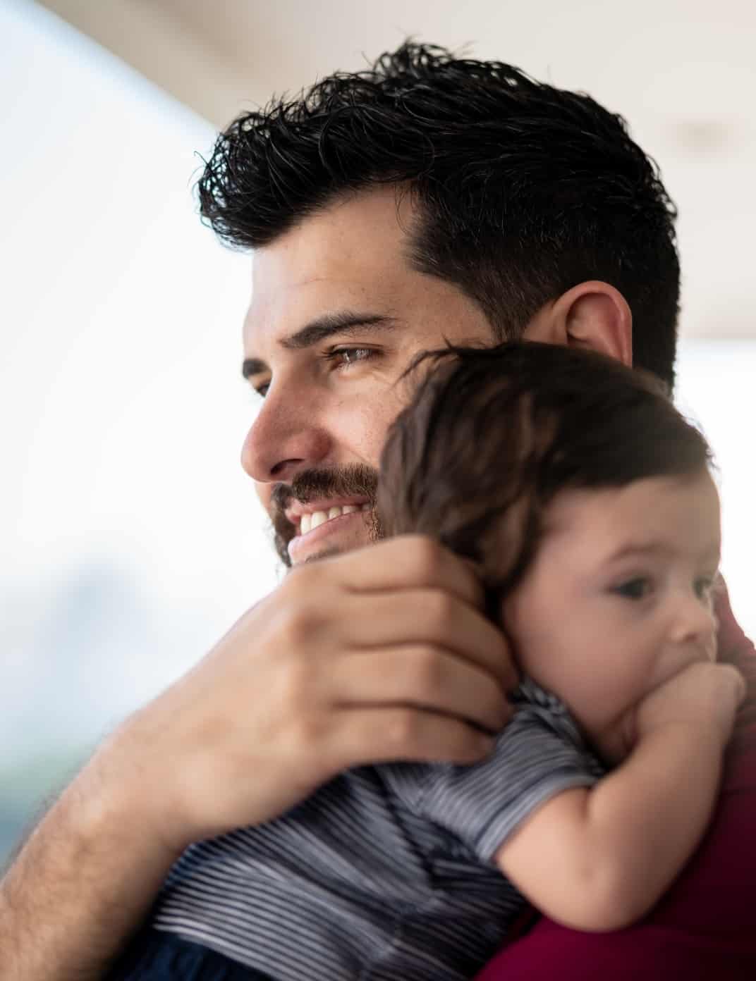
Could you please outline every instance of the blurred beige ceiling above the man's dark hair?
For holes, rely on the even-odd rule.
[[[621,112],[680,212],[682,333],[756,337],[752,0],[47,0],[217,127],[407,35]]]

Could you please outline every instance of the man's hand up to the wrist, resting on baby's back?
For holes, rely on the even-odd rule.
[[[111,763],[182,847],[270,820],[354,765],[480,759],[516,683],[481,604],[469,567],[417,536],[299,567],[128,721]]]

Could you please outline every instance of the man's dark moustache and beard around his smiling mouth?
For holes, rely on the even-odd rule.
[[[366,497],[370,505],[370,510],[364,512],[368,521],[368,540],[378,542],[383,538],[383,529],[375,508],[377,490],[378,471],[362,463],[348,463],[328,470],[303,470],[291,484],[276,484],[270,497],[273,543],[284,565],[292,565],[288,546],[297,535],[297,526],[284,513],[293,500],[306,504],[320,497]]]

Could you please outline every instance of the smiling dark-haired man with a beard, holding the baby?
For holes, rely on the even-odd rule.
[[[3,981],[102,976],[190,842],[356,764],[479,759],[506,724],[515,672],[471,571],[422,539],[361,547],[418,351],[527,336],[674,378],[675,212],[587,96],[405,45],[232,125],[199,186],[253,250],[243,466],[296,568],[32,834],[0,894]]]

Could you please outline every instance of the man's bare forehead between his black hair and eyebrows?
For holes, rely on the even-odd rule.
[[[490,337],[485,314],[457,284],[414,268],[410,224],[398,212],[394,188],[359,191],[260,248],[244,320],[245,357],[270,361],[286,338],[324,318],[403,324],[410,346]]]

